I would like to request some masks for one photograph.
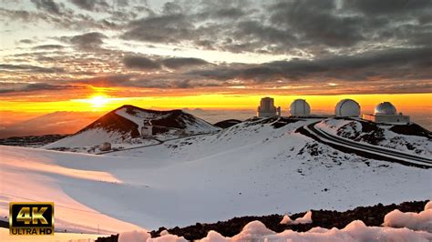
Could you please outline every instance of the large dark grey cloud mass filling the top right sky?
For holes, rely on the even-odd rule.
[[[376,43],[427,45],[432,35],[427,25],[432,21],[432,1],[378,2],[287,0],[253,5],[251,1],[222,1],[191,8],[189,2],[180,1],[164,5],[162,13],[129,22],[121,37],[190,43],[233,53],[298,56],[349,54]]]

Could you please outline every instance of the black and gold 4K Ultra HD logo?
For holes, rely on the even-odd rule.
[[[54,235],[54,203],[9,203],[9,234]]]

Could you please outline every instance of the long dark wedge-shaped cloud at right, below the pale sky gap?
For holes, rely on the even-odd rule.
[[[216,80],[240,78],[254,82],[287,80],[303,82],[315,79],[367,81],[371,77],[386,79],[432,78],[432,48],[390,49],[361,55],[334,55],[332,57],[291,61],[275,61],[262,65],[219,66],[191,71],[192,76]]]

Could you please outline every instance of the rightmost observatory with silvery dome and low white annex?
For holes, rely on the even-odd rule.
[[[409,116],[404,116],[402,113],[397,114],[396,107],[389,102],[380,103],[375,106],[373,115],[363,115],[363,119],[373,121],[375,123],[386,124],[406,124],[409,123]]]

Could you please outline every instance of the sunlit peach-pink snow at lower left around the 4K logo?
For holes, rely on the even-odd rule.
[[[122,182],[108,172],[85,165],[98,156],[43,151],[32,148],[1,146],[0,149],[0,214],[8,217],[11,201],[52,201],[55,203],[56,229],[84,233],[112,234],[137,226],[88,207],[79,198],[99,187],[117,187]],[[99,165],[103,164],[100,161]],[[93,186],[93,187],[92,187]],[[67,189],[81,193],[71,197]],[[99,202],[103,201],[100,197]],[[103,202],[102,202],[103,203]]]

